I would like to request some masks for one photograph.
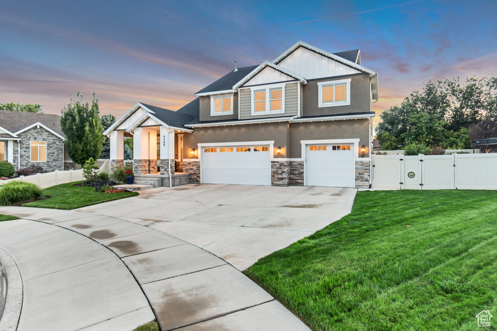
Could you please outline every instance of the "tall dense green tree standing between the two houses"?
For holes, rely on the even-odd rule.
[[[73,101],[71,96],[71,103],[62,109],[61,126],[66,134],[64,144],[69,157],[74,162],[83,164],[90,157],[97,159],[100,156],[105,137],[98,117],[98,99],[95,92],[91,107],[87,102],[83,103],[81,92],[78,92],[76,98],[76,101]]]

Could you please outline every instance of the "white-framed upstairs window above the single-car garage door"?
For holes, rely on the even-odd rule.
[[[318,83],[318,107],[337,107],[350,105],[350,78],[322,81]]]

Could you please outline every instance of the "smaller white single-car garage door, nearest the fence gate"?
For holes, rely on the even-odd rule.
[[[354,187],[354,145],[306,145],[306,186]]]

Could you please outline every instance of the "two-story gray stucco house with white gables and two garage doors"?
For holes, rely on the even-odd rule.
[[[274,61],[235,68],[177,111],[137,103],[104,134],[111,166],[134,136],[135,174],[190,182],[369,187],[378,74],[359,50],[298,42]]]

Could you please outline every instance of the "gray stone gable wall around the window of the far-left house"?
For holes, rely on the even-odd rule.
[[[64,140],[55,134],[43,129],[33,127],[18,134],[20,140],[20,151],[17,149],[17,141],[14,141],[14,168],[17,169],[18,153],[20,152],[20,168],[29,166],[40,166],[44,171],[64,170]],[[31,141],[47,142],[47,160],[45,162],[31,162]]]

